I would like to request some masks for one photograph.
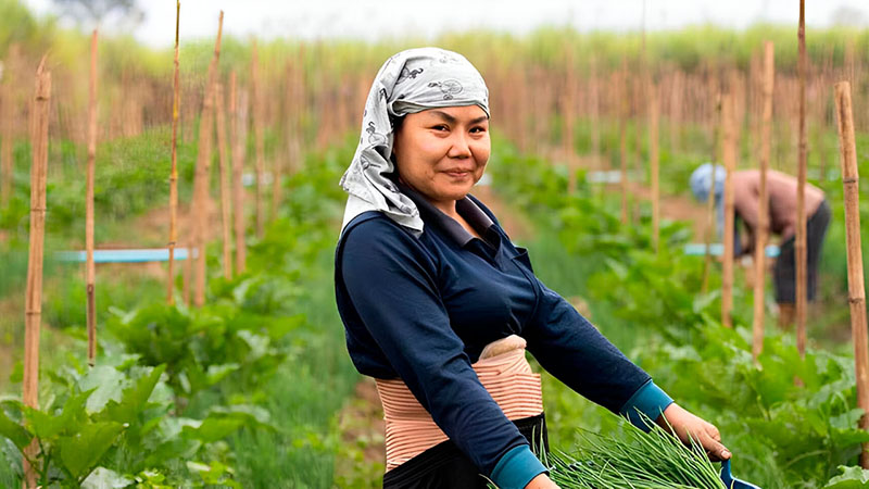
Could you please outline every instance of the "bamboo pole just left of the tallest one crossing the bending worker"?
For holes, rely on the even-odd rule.
[[[769,139],[772,133],[772,88],[776,79],[774,48],[764,43],[764,114],[760,126],[760,199],[757,206],[757,229],[754,242],[754,321],[752,325],[752,355],[755,360],[764,351],[764,291],[766,289],[766,247],[769,234],[769,197],[767,170],[769,168]]]

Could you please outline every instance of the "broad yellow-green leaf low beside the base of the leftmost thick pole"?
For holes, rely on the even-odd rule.
[[[58,440],[63,466],[79,479],[90,473],[112,447],[124,425],[115,422],[88,424],[79,432]]]

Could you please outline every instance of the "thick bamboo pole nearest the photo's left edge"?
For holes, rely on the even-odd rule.
[[[46,183],[48,179],[48,122],[51,98],[51,72],[46,58],[36,70],[36,90],[30,116],[33,166],[30,168],[30,248],[27,262],[27,290],[24,309],[24,405],[39,409],[39,328],[42,319],[42,252],[46,235]],[[35,459],[34,443],[25,454]],[[25,460],[25,487],[36,487],[36,473]]]

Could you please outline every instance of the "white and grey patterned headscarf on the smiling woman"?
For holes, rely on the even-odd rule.
[[[465,57],[440,48],[408,49],[383,63],[368,92],[362,135],[341,187],[350,193],[341,226],[366,211],[423,233],[416,204],[388,175],[395,170],[393,124],[399,117],[442,106],[479,105],[489,114],[489,90]]]

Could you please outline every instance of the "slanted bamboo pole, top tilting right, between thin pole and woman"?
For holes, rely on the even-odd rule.
[[[221,36],[224,27],[224,12],[217,24],[217,39],[214,42],[214,55],[209,64],[209,78],[205,85],[205,97],[202,101],[202,116],[199,121],[199,152],[197,170],[193,178],[193,204],[190,210],[193,220],[193,242],[199,253],[196,259],[193,280],[193,305],[205,304],[205,244],[209,235],[209,175],[211,174],[212,136],[214,133],[214,87],[217,84],[217,63],[221,60]]]

